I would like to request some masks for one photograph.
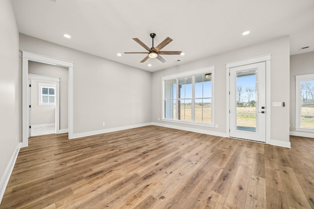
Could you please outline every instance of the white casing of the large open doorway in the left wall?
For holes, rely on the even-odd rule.
[[[69,139],[73,139],[73,62],[22,51],[22,143],[28,146],[28,61],[45,63],[69,69]]]

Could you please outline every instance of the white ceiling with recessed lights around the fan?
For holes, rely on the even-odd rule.
[[[291,55],[314,51],[314,0],[12,1],[20,33],[151,72],[285,35]],[[152,47],[150,33],[154,46],[168,36],[173,41],[162,50],[185,55],[140,63],[145,54],[123,53],[146,51],[132,38]]]

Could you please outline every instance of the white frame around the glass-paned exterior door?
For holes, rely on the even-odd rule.
[[[271,54],[263,55],[260,57],[254,57],[254,58],[249,58],[245,60],[240,60],[232,63],[226,63],[226,133],[230,137],[230,115],[229,115],[229,104],[230,104],[230,78],[229,78],[229,72],[230,68],[234,67],[239,67],[239,66],[244,66],[244,65],[249,65],[249,64],[254,64],[254,63],[259,63],[259,62],[266,62],[266,143],[270,143],[270,116],[271,116],[271,105],[270,105],[270,60],[271,60]]]

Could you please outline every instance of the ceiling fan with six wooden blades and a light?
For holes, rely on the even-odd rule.
[[[163,47],[167,46],[170,42],[172,42],[172,39],[167,37],[165,40],[163,40],[158,46],[154,47],[154,38],[156,37],[155,33],[150,34],[151,38],[153,39],[153,47],[149,48],[146,46],[143,42],[141,42],[138,38],[133,38],[134,41],[136,41],[139,45],[143,46],[148,52],[124,52],[125,54],[148,54],[141,63],[148,60],[148,58],[157,58],[160,62],[164,63],[166,62],[165,59],[163,59],[160,54],[176,54],[180,55],[181,51],[160,51]]]

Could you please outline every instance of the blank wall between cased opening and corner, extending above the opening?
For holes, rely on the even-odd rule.
[[[151,122],[151,72],[24,34],[20,49],[74,62],[76,136]]]

